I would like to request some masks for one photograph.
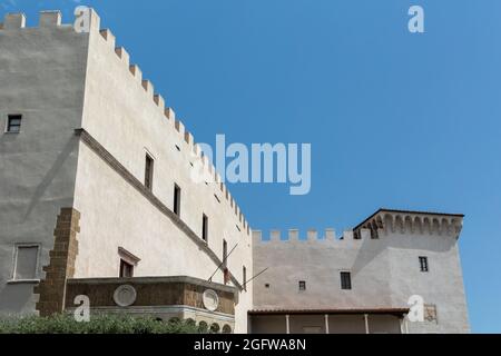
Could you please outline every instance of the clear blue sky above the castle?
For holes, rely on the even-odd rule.
[[[2,0],[28,24],[78,1]],[[82,1],[197,141],[311,142],[312,191],[230,189],[252,226],[356,225],[379,207],[466,215],[473,332],[501,332],[501,1]],[[425,10],[424,34],[407,9]]]

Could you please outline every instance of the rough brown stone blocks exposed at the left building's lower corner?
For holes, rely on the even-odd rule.
[[[46,278],[33,288],[40,295],[37,310],[40,316],[51,316],[65,309],[66,281],[75,275],[75,260],[78,255],[77,234],[80,212],[73,208],[62,208],[53,230],[53,249],[49,253],[50,261],[43,267]]]

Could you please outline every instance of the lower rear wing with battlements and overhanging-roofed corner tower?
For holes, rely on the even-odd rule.
[[[254,283],[254,309],[402,308],[420,295],[438,318],[409,323],[411,333],[468,333],[456,244],[462,220],[381,209],[340,237],[334,229],[254,230],[254,269],[267,268]],[[428,273],[420,257],[428,257]],[[351,273],[351,290],[341,288],[342,271]]]

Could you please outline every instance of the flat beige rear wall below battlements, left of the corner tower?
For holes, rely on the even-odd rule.
[[[254,284],[254,308],[363,308],[392,304],[385,271],[390,261],[381,241],[362,240],[254,240],[256,270],[268,268]],[[377,258],[371,258],[373,255]],[[341,271],[352,273],[353,290],[341,290]],[[298,290],[298,281],[306,290]],[[269,284],[269,288],[265,288]]]

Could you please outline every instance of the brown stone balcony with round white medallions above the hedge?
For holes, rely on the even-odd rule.
[[[226,333],[234,329],[238,303],[234,287],[184,276],[68,279],[67,312],[80,305],[79,296],[89,298],[91,314],[134,314],[165,322],[193,319]]]

